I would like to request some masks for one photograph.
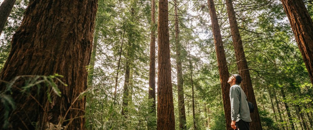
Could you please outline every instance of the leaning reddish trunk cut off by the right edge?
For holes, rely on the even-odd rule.
[[[313,21],[301,0],[281,0],[313,83]]]

